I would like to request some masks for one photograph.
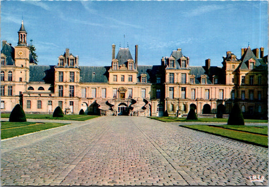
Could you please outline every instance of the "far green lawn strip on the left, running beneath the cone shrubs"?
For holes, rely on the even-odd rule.
[[[61,120],[76,120],[85,121],[92,119],[94,117],[99,117],[98,115],[64,115],[64,117],[52,117],[52,114],[25,114],[26,118],[30,119],[61,119]],[[9,113],[2,113],[1,117],[9,118]]]

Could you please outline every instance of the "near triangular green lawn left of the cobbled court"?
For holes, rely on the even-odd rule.
[[[1,139],[16,137],[28,133],[64,126],[68,123],[56,122],[9,122],[1,121]]]

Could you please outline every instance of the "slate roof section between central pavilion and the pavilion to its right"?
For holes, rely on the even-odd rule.
[[[147,83],[156,83],[156,74],[162,66],[138,66],[137,82],[140,83],[141,74],[147,75]]]

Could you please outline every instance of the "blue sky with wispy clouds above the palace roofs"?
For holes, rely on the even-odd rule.
[[[127,47],[139,65],[159,65],[162,56],[182,48],[190,66],[222,66],[226,51],[268,51],[266,1],[2,1],[1,39],[13,45],[23,20],[39,65],[56,65],[70,48],[80,66],[110,66]],[[125,35],[125,40],[124,40]],[[124,42],[125,41],[125,42]]]

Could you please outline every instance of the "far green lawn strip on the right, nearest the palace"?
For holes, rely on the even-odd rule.
[[[200,117],[198,120],[186,120],[186,117],[155,117],[151,116],[149,117],[151,119],[156,119],[159,121],[164,121],[164,122],[190,122],[190,121],[198,121],[198,122],[227,122],[228,118],[206,118],[206,117]],[[267,123],[268,120],[264,119],[244,119],[245,122],[264,122]]]

